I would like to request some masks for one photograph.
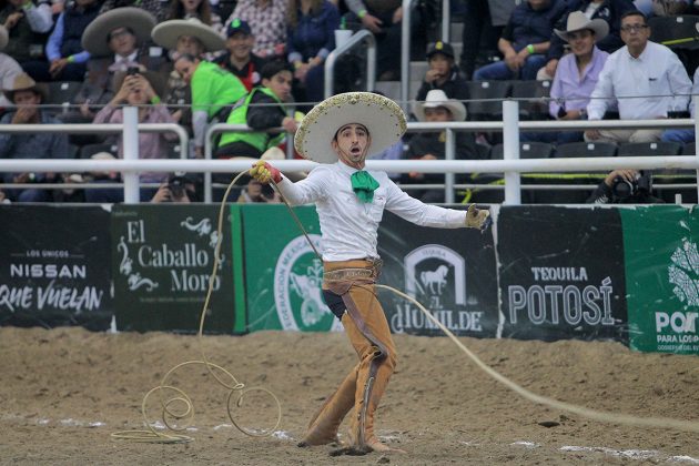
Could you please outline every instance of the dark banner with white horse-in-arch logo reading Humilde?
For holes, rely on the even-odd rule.
[[[379,283],[414,297],[459,336],[493,337],[498,322],[493,230],[430,229],[384,212]],[[378,294],[393,333],[443,335],[423,312],[388,291]]]

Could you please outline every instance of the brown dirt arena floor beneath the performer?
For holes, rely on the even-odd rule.
[[[699,421],[699,357],[632,353],[616,343],[463,342],[541,395]],[[194,440],[163,445],[114,440],[111,434],[142,428],[143,395],[172,366],[200,358],[195,336],[3,327],[0,464],[699,464],[699,434],[602,424],[535,405],[480,372],[448,338],[398,335],[396,344],[398,372],[378,411],[377,432],[407,454],[334,457],[332,446],[295,445],[354,364],[343,334],[206,336],[211,362],[278,396],[282,422],[272,437],[241,434],[226,415],[227,392],[203,366],[186,366],[173,382],[193,399],[186,434]],[[155,401],[155,415],[158,406]],[[270,398],[254,394],[235,413],[251,428],[275,422]]]

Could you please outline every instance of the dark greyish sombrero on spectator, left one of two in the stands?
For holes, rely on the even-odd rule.
[[[123,7],[109,10],[98,16],[82,33],[82,48],[92,57],[105,57],[112,53],[109,48],[111,32],[116,28],[129,28],[136,38],[136,48],[151,38],[155,27],[155,17],[145,10]]]

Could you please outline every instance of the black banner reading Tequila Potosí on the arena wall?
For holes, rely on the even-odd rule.
[[[503,337],[628,342],[616,209],[503,206]]]

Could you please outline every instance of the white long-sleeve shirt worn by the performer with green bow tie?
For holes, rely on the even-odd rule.
[[[385,172],[368,171],[378,182],[374,200],[361,202],[352,190],[356,169],[342,162],[323,164],[296,183],[284,179],[278,188],[292,205],[315,203],[321,223],[324,261],[378,257],[378,224],[388,210],[423,226],[457,229],[466,226],[466,212],[427,205],[411,197]]]

